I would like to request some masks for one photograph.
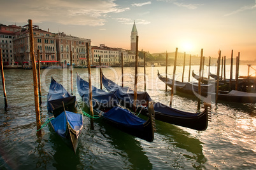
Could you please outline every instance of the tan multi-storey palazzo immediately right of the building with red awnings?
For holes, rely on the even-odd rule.
[[[86,43],[89,42],[89,55],[92,61],[91,40],[75,36],[68,36],[63,32],[55,34],[57,46],[57,60],[64,65],[70,64],[70,51],[74,65],[87,65]]]

